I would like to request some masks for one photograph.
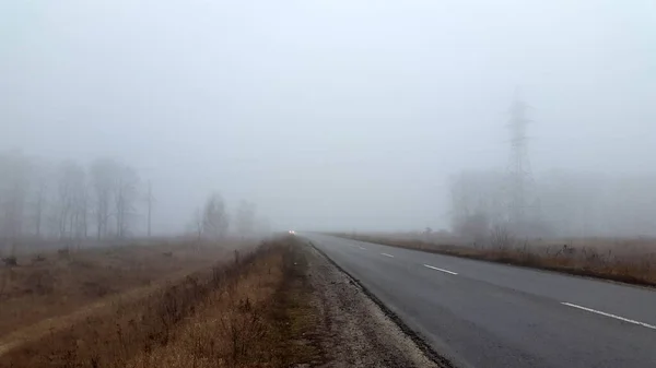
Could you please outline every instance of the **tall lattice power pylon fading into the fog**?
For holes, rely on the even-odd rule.
[[[527,209],[532,206],[534,178],[528,157],[527,127],[530,120],[527,117],[529,106],[515,93],[515,100],[511,106],[511,155],[508,161],[508,222],[516,232],[527,230],[529,222]]]

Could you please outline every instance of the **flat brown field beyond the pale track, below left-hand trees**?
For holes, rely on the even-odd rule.
[[[19,329],[227,259],[234,245],[122,246],[23,254],[0,265],[0,341]]]

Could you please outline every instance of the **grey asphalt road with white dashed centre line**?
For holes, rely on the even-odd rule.
[[[656,290],[300,236],[456,367],[656,367]]]

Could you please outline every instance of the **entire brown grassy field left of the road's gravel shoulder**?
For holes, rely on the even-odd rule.
[[[175,246],[97,249],[15,268],[12,272],[25,275],[11,281],[3,306],[10,301],[30,309],[28,298],[19,293],[26,287],[37,298],[61,299],[59,313],[75,309],[63,295],[104,302],[82,318],[50,318],[56,329],[4,351],[0,346],[0,367],[290,367],[316,360],[318,347],[304,337],[314,314],[301,277],[305,265],[295,258],[293,242],[285,238],[230,252]],[[37,292],[38,283],[24,281],[36,270],[49,270],[59,282]],[[93,293],[72,290],[87,280],[94,280]],[[42,308],[47,305],[34,305],[37,312],[30,318],[4,321],[5,331],[56,314]]]

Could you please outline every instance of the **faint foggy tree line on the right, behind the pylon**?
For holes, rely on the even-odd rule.
[[[656,176],[549,171],[536,177],[525,222],[509,224],[503,173],[452,178],[452,229],[477,241],[500,226],[523,237],[656,236]],[[520,228],[515,228],[515,227]]]

